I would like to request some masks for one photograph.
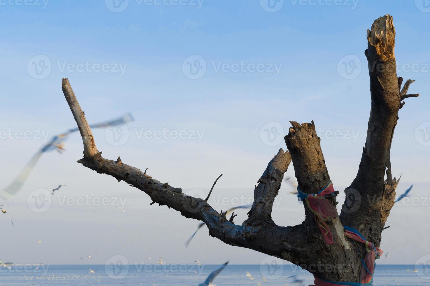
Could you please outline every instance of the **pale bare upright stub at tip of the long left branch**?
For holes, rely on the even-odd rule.
[[[61,83],[61,89],[63,90],[64,97],[66,98],[70,110],[72,111],[73,117],[75,118],[76,124],[78,125],[83,142],[83,154],[86,157],[92,157],[98,153],[98,150],[95,146],[91,128],[86,121],[85,113],[80,108],[80,105],[76,99],[75,93],[73,92],[68,78],[63,78],[63,82]]]

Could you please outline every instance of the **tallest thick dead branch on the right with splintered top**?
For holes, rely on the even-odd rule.
[[[348,196],[341,213],[344,225],[354,227],[370,241],[379,246],[385,221],[394,205],[394,190],[399,180],[392,177],[390,149],[399,109],[407,95],[412,80],[406,81],[402,90],[403,78],[397,77],[394,56],[396,31],[393,17],[386,15],[375,20],[367,32],[368,48],[365,55],[369,64],[370,109],[367,138],[361,162],[351,190],[360,196],[357,211],[347,211]],[[385,174],[387,178],[385,179]]]

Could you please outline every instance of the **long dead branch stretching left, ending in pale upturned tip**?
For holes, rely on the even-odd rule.
[[[296,264],[304,263],[305,259],[309,257],[309,253],[305,249],[306,241],[301,236],[303,233],[301,225],[295,227],[279,227],[275,224],[264,227],[249,224],[235,225],[228,221],[225,215],[215,211],[203,199],[187,196],[182,193],[180,188],[169,186],[168,183],[161,183],[138,168],[126,165],[121,161],[107,160],[101,157],[101,152],[97,151],[91,129],[67,78],[63,79],[62,89],[81,131],[85,151],[83,159],[78,160],[78,163],[100,174],[108,174],[118,181],[125,181],[150,196],[153,203],[156,202],[173,208],[186,218],[203,221],[209,228],[209,234],[224,243],[254,249],[258,252],[293,261]],[[287,167],[286,161],[283,161],[282,168],[286,170]],[[279,180],[279,184],[280,181],[282,178]],[[271,238],[271,243],[267,243],[267,237]]]

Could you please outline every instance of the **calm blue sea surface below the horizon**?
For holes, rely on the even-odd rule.
[[[12,266],[0,269],[0,285],[198,285],[218,265],[43,265]],[[89,273],[88,268],[95,270]],[[409,271],[408,271],[409,270]],[[430,285],[430,273],[413,272],[414,265],[378,265],[375,286]],[[254,280],[246,276],[252,274]],[[425,270],[424,270],[425,271]],[[312,276],[295,266],[283,265],[267,272],[264,265],[228,265],[215,279],[221,285],[308,285]],[[290,275],[297,275],[304,284],[292,283]]]

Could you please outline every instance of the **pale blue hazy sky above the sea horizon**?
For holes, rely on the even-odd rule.
[[[267,163],[286,149],[282,137],[290,120],[315,121],[331,179],[342,191],[356,175],[369,118],[366,30],[389,13],[398,75],[415,79],[409,91],[421,93],[399,112],[392,169],[402,174],[398,192],[414,183],[418,203],[393,208],[381,244],[390,257],[378,263],[414,264],[430,255],[430,9],[420,1],[285,0],[270,8],[263,0],[176,6],[129,0],[114,8],[109,0],[0,0],[1,188],[43,145],[43,134],[76,126],[61,92],[67,77],[90,123],[125,112],[135,117],[114,130],[120,140],[111,130],[94,130],[105,158],[120,155],[126,164],[148,167],[157,180],[195,193],[207,193],[222,173],[211,202],[219,211],[252,199]],[[25,131],[28,138],[19,133]],[[259,264],[267,257],[227,246],[206,227],[186,250],[197,221],[150,206],[146,194],[77,164],[79,134],[65,148],[44,155],[22,191],[6,202],[15,227],[0,216],[3,261],[104,264],[124,255],[130,264],[158,257]],[[287,174],[293,175],[292,165]],[[28,206],[31,192],[58,184],[67,187],[46,212]],[[284,183],[277,197],[273,218],[279,225],[304,218],[290,190]],[[108,205],[81,205],[86,196]],[[126,213],[115,208],[118,197],[126,200]],[[246,218],[246,211],[239,213],[238,224]],[[80,259],[94,252],[91,261]]]

